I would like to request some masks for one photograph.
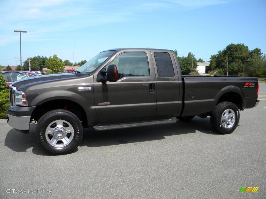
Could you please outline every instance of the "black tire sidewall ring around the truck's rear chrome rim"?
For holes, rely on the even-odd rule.
[[[223,127],[223,124],[222,124],[222,114],[223,112],[226,110],[226,109],[232,109],[234,112],[235,112],[235,123],[232,127],[230,128],[224,128]],[[222,110],[220,111],[219,113],[219,117],[218,117],[218,128],[220,129],[221,132],[223,132],[224,134],[229,134],[229,133],[232,133],[235,128],[237,127],[238,125],[238,122],[239,122],[239,118],[240,118],[240,114],[239,114],[239,109],[238,107],[233,104],[233,103],[229,103],[227,105],[225,105]]]

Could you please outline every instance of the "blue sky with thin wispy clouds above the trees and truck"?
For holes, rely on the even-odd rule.
[[[149,47],[208,61],[231,43],[266,54],[265,10],[265,0],[0,0],[0,65],[20,57],[14,30],[27,31],[22,60],[56,54],[80,62],[108,49]]]

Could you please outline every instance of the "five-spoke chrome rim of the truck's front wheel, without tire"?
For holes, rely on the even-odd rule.
[[[74,129],[72,125],[65,120],[55,120],[46,128],[45,137],[52,146],[63,147],[72,141]]]

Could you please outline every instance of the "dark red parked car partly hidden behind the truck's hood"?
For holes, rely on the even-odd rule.
[[[7,89],[9,89],[9,85],[12,84],[14,81],[39,75],[37,73],[29,71],[1,71],[0,73],[4,76],[6,80]]]

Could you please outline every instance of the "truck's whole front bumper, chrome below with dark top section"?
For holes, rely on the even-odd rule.
[[[16,130],[28,133],[30,129],[31,114],[36,106],[12,106],[7,110],[7,123]]]

